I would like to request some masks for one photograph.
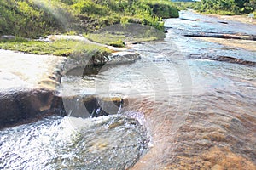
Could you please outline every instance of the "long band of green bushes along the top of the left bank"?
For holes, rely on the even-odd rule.
[[[163,30],[161,19],[172,17],[178,11],[169,0],[0,0],[0,35],[41,37],[129,22]]]

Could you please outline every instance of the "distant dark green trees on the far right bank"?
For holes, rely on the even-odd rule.
[[[201,0],[195,10],[213,14],[242,14],[256,10],[256,0]]]

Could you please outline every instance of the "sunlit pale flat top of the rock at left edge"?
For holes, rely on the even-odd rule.
[[[16,53],[0,49],[0,89],[47,88],[55,90],[66,58]]]

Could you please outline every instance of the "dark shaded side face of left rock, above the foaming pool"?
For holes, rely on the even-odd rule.
[[[0,92],[0,128],[57,113],[57,109],[61,109],[60,102],[55,92],[47,89],[15,89]],[[62,111],[59,111],[61,115]]]

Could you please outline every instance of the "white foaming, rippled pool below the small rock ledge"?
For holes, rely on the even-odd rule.
[[[131,116],[51,116],[0,132],[0,168],[125,169],[142,156],[147,140]]]

